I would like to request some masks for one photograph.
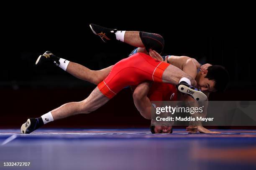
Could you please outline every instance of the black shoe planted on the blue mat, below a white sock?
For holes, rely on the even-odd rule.
[[[21,125],[20,133],[28,134],[40,127],[38,118],[29,118],[23,125]]]

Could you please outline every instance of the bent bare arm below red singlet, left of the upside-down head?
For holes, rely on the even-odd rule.
[[[147,97],[151,82],[142,82],[133,92],[133,102],[137,110],[146,119],[151,119],[151,102]]]

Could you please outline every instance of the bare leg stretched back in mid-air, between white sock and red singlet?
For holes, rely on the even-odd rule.
[[[113,65],[102,70],[90,70],[89,68],[84,67],[83,65],[77,64],[75,62],[69,62],[66,71],[74,77],[97,85],[108,76],[112,67]]]

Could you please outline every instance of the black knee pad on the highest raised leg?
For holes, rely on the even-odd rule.
[[[151,48],[161,54],[164,49],[164,37],[148,32],[140,32],[140,37],[147,51]]]

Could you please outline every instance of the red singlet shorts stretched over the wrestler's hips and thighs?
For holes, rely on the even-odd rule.
[[[117,62],[98,88],[106,97],[112,98],[128,85],[138,85],[146,80],[162,82],[163,72],[169,65],[138,52]]]

